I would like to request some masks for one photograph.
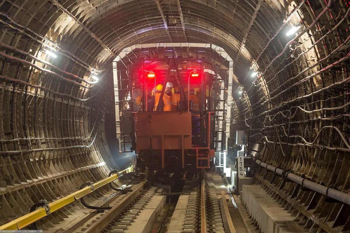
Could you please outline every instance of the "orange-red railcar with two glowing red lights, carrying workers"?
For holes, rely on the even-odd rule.
[[[138,88],[131,90],[135,100],[142,96],[142,108],[134,111],[137,168],[140,172],[209,168],[215,154],[214,76],[194,58],[143,59],[141,65],[134,79]],[[172,93],[165,92],[168,82]],[[161,111],[152,98],[155,93],[159,100],[176,95],[176,108]]]

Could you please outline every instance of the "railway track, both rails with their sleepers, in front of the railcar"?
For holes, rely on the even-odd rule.
[[[147,184],[146,184],[147,183]],[[202,179],[200,173],[196,173],[192,180],[190,190],[186,194],[188,202],[186,213],[182,224],[183,233],[225,233],[221,205],[217,197],[213,176],[205,173]],[[135,229],[138,218],[142,218],[140,212],[153,197],[159,197],[158,187],[149,185],[148,182],[140,185],[138,189],[128,195],[122,202],[112,210],[106,212],[94,224],[82,233],[127,233]],[[226,199],[225,199],[226,201]],[[225,214],[223,215],[225,216]],[[176,219],[175,219],[176,221]],[[128,230],[129,229],[129,230]],[[142,232],[140,230],[140,232]],[[228,231],[226,231],[227,233]],[[135,232],[136,233],[136,232]]]

